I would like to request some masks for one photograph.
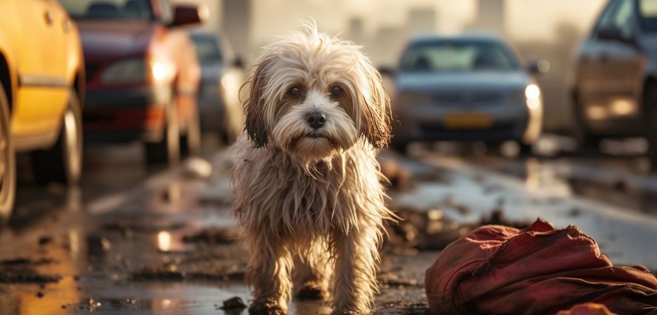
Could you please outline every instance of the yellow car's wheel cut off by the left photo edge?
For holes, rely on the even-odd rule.
[[[16,199],[16,155],[9,128],[9,102],[0,82],[0,226],[9,221]]]

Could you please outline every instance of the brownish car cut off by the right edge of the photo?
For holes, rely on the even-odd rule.
[[[646,137],[657,163],[657,0],[611,0],[578,51],[572,89],[576,135]]]

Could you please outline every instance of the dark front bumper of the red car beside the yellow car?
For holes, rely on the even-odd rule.
[[[83,124],[89,141],[157,141],[162,138],[170,87],[88,89]]]

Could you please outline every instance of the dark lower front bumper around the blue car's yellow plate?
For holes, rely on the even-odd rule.
[[[487,117],[489,123],[476,127],[449,125],[453,115]],[[541,123],[542,115],[530,113],[524,104],[504,104],[486,108],[444,108],[440,106],[403,106],[396,110],[399,120],[393,123],[393,141],[405,143],[416,140],[502,142],[524,140],[531,123]],[[534,139],[529,142],[533,142]]]

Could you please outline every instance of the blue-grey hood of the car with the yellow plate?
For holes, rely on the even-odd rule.
[[[463,92],[512,91],[524,89],[530,81],[524,71],[462,73],[399,73],[398,91]]]

